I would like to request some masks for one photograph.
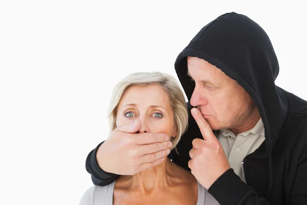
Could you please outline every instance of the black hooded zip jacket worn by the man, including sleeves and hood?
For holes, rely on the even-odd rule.
[[[226,13],[201,29],[179,54],[175,69],[190,100],[194,83],[187,75],[187,56],[199,57],[236,80],[252,97],[265,128],[265,141],[244,158],[244,183],[226,171],[208,190],[223,204],[307,204],[307,102],[275,86],[279,66],[266,32],[247,16]],[[191,106],[188,104],[189,110]],[[192,140],[202,138],[193,117],[178,144],[173,162],[189,170]],[[95,185],[118,177],[103,172],[93,150],[86,170]]]

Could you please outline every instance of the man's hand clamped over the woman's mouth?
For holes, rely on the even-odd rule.
[[[134,175],[159,165],[170,153],[169,137],[163,133],[136,133],[141,121],[116,128],[97,151],[99,167],[109,173]]]

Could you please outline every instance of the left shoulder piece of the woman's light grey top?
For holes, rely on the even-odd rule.
[[[96,205],[96,204],[108,205],[109,204],[108,200],[110,198],[108,195],[112,193],[111,199],[113,198],[114,184],[115,182],[106,186],[90,187],[84,192],[79,202],[79,205]]]

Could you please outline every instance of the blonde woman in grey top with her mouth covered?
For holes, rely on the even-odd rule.
[[[142,132],[165,133],[178,144],[187,128],[184,95],[173,77],[159,72],[133,73],[113,90],[108,111],[111,131],[141,121]],[[93,186],[80,204],[218,204],[187,170],[169,158],[132,176],[120,176],[108,186]]]

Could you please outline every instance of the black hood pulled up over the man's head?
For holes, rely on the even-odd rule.
[[[204,26],[179,54],[175,69],[190,101],[194,83],[187,75],[187,56],[205,59],[236,80],[252,97],[265,127],[265,142],[255,151],[269,156],[287,116],[282,89],[275,86],[278,60],[266,32],[249,17],[223,14]]]

